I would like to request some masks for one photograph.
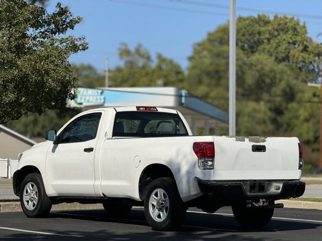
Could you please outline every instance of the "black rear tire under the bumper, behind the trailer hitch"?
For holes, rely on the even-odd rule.
[[[241,226],[246,228],[260,228],[266,226],[272,219],[274,208],[232,206],[232,213]]]

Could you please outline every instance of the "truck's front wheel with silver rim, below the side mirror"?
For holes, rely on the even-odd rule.
[[[50,212],[51,200],[39,173],[30,173],[25,177],[19,195],[22,210],[27,217],[44,217]]]

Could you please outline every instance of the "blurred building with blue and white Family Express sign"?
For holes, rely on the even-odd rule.
[[[99,106],[159,106],[178,109],[194,135],[203,129],[215,135],[228,128],[228,113],[176,87],[78,88],[76,98],[67,105],[82,109]]]

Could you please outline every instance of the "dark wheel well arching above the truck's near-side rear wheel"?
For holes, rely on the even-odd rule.
[[[139,180],[139,196],[143,201],[146,187],[156,178],[170,177],[175,180],[175,177],[169,167],[163,164],[151,164],[144,168]]]

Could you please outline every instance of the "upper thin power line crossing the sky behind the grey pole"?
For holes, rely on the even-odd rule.
[[[186,3],[191,5],[198,5],[198,6],[205,6],[205,7],[211,7],[211,8],[220,8],[220,9],[229,9],[229,6],[227,5],[220,5],[220,4],[210,4],[206,2],[197,2],[193,0],[170,0],[171,2],[178,2],[178,3]],[[319,19],[322,20],[322,16],[320,15],[311,15],[311,14],[301,14],[301,13],[284,13],[279,11],[270,11],[270,10],[263,10],[263,9],[252,9],[252,8],[240,8],[236,7],[237,10],[243,11],[243,12],[251,12],[251,13],[267,13],[267,14],[279,14],[279,15],[289,15],[289,16],[298,16],[302,18],[309,18],[309,19]]]

